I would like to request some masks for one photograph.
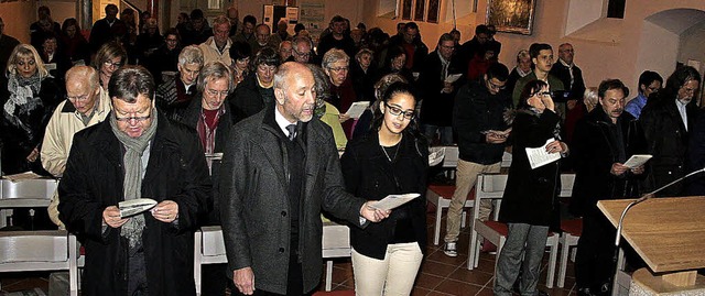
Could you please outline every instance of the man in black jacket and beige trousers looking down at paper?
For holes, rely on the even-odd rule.
[[[512,108],[509,91],[505,89],[507,78],[507,66],[495,63],[487,69],[482,79],[463,86],[455,97],[453,129],[457,134],[459,154],[455,193],[448,207],[444,238],[443,252],[447,256],[458,255],[457,240],[463,207],[476,185],[477,175],[499,173],[507,136],[510,133],[509,124],[502,114]],[[482,200],[476,218],[487,220],[491,208],[490,200]]]

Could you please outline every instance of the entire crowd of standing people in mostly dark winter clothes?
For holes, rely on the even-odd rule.
[[[478,174],[499,173],[510,150],[495,294],[542,293],[545,237],[562,218],[558,176],[574,172],[578,294],[607,295],[615,229],[596,201],[638,197],[705,163],[702,78],[688,66],[665,83],[644,70],[629,100],[619,79],[586,87],[570,43],[557,61],[550,44],[511,48],[510,70],[492,25],[464,43],[444,33],[430,51],[414,22],[390,35],[336,15],[314,44],[302,24],[292,35],[284,21],[240,21],[236,8],[212,23],[199,9],[181,13],[164,34],[149,13],[138,24],[135,11],[118,11],[106,6],[86,40],[76,19],[59,25],[40,7],[30,44],[4,35],[0,19],[2,172],[61,177],[43,216],[86,248],[85,295],[193,295],[200,226],[223,227],[228,257],[204,267],[204,295],[308,295],[321,277],[322,211],[350,226],[359,295],[409,295],[426,251],[432,145],[459,150],[446,255],[457,256]],[[360,101],[365,112],[347,114]],[[560,161],[534,167],[531,147]],[[626,166],[634,154],[653,158]],[[409,193],[421,197],[375,206]],[[703,194],[703,178],[659,193]],[[118,202],[139,198],[158,204],[122,217]],[[477,218],[491,211],[484,202]]]

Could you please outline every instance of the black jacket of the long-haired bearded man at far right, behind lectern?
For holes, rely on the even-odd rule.
[[[697,107],[694,102],[686,106],[688,129],[685,129],[675,103],[675,95],[671,97],[659,92],[657,99],[647,102],[639,117],[647,138],[647,151],[653,155],[653,158],[647,163],[646,191],[657,189],[685,175],[688,129],[695,127]],[[661,191],[660,196],[683,194],[684,185],[679,183]]]

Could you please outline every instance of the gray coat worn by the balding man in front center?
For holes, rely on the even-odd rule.
[[[289,141],[274,121],[274,108],[235,125],[225,152],[220,187],[228,276],[250,266],[257,289],[286,294],[291,220],[288,175],[305,174],[299,209],[299,253],[303,287],[321,283],[323,264],[321,210],[359,224],[365,202],[345,191],[330,129],[314,117],[299,124],[296,141],[305,141],[305,172],[288,172]],[[303,140],[302,138],[305,138]]]

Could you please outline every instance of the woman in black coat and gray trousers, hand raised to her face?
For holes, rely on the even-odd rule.
[[[558,138],[560,120],[549,85],[542,80],[528,83],[512,123],[510,141],[514,153],[499,210],[499,220],[508,224],[509,232],[497,262],[495,295],[512,295],[519,270],[520,294],[538,295],[560,172],[557,161],[532,169],[525,149],[543,147],[550,154],[566,154],[568,147]]]

